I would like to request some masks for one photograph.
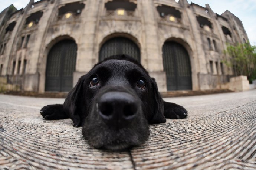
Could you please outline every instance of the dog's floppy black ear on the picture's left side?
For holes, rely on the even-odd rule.
[[[82,112],[81,102],[84,96],[83,82],[85,81],[85,76],[86,75],[83,75],[79,78],[76,86],[68,93],[63,105],[66,114],[72,119],[74,127],[81,126],[82,123],[80,114]]]

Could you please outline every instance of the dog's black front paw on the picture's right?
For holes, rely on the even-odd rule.
[[[188,116],[185,108],[175,103],[164,103],[164,116],[170,119],[184,119]]]

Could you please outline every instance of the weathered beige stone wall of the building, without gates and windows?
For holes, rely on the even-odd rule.
[[[228,88],[226,79],[233,72],[222,63],[227,59],[223,50],[227,43],[249,41],[239,18],[229,11],[218,15],[209,5],[202,7],[189,4],[186,0],[178,3],[174,0],[129,0],[136,4],[135,10],[118,15],[118,9],[106,9],[108,1],[110,0],[41,0],[34,3],[30,0],[23,10],[12,15],[6,15],[10,7],[2,11],[0,48],[5,50],[0,51],[0,65],[3,66],[1,75],[25,77],[26,81],[17,84],[22,86],[20,89],[44,93],[48,53],[56,43],[69,39],[78,47],[73,74],[74,86],[79,76],[88,72],[99,61],[99,53],[106,41],[124,37],[138,46],[140,62],[148,72],[157,76],[161,92],[167,91],[167,71],[163,66],[163,45],[167,41],[180,44],[188,53],[191,67],[186,68],[191,70],[192,79],[191,88],[188,89],[197,91]],[[69,13],[69,17],[59,15],[60,8],[70,7],[69,3],[78,2],[85,6],[79,13]],[[157,10],[157,7],[162,6],[179,11],[181,17],[164,13],[162,15]],[[27,18],[36,12],[42,12],[43,15],[29,27]],[[68,12],[70,11],[66,11],[66,14]],[[211,28],[205,23],[199,23],[197,16],[210,22]],[[170,20],[170,17],[174,17],[174,20]],[[6,28],[13,22],[16,22],[16,26],[12,31],[6,32]],[[231,37],[223,32],[222,27],[230,31]],[[28,36],[29,41],[25,43]],[[183,65],[182,62],[180,64]]]

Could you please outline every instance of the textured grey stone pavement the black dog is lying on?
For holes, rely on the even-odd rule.
[[[0,95],[0,169],[256,169],[256,90],[165,98],[188,118],[151,125],[144,145],[94,149],[70,119],[44,120],[64,99]]]

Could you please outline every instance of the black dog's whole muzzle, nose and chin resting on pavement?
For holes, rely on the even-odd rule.
[[[149,127],[140,98],[131,88],[103,87],[91,103],[82,133],[96,148],[119,150],[144,143]]]

